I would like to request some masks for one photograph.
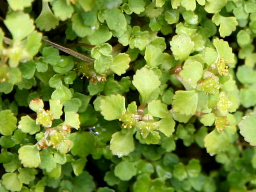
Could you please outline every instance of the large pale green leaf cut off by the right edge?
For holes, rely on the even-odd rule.
[[[250,145],[256,146],[256,114],[251,113],[250,115],[243,117],[242,121],[238,124],[238,127],[244,140],[249,142]]]

